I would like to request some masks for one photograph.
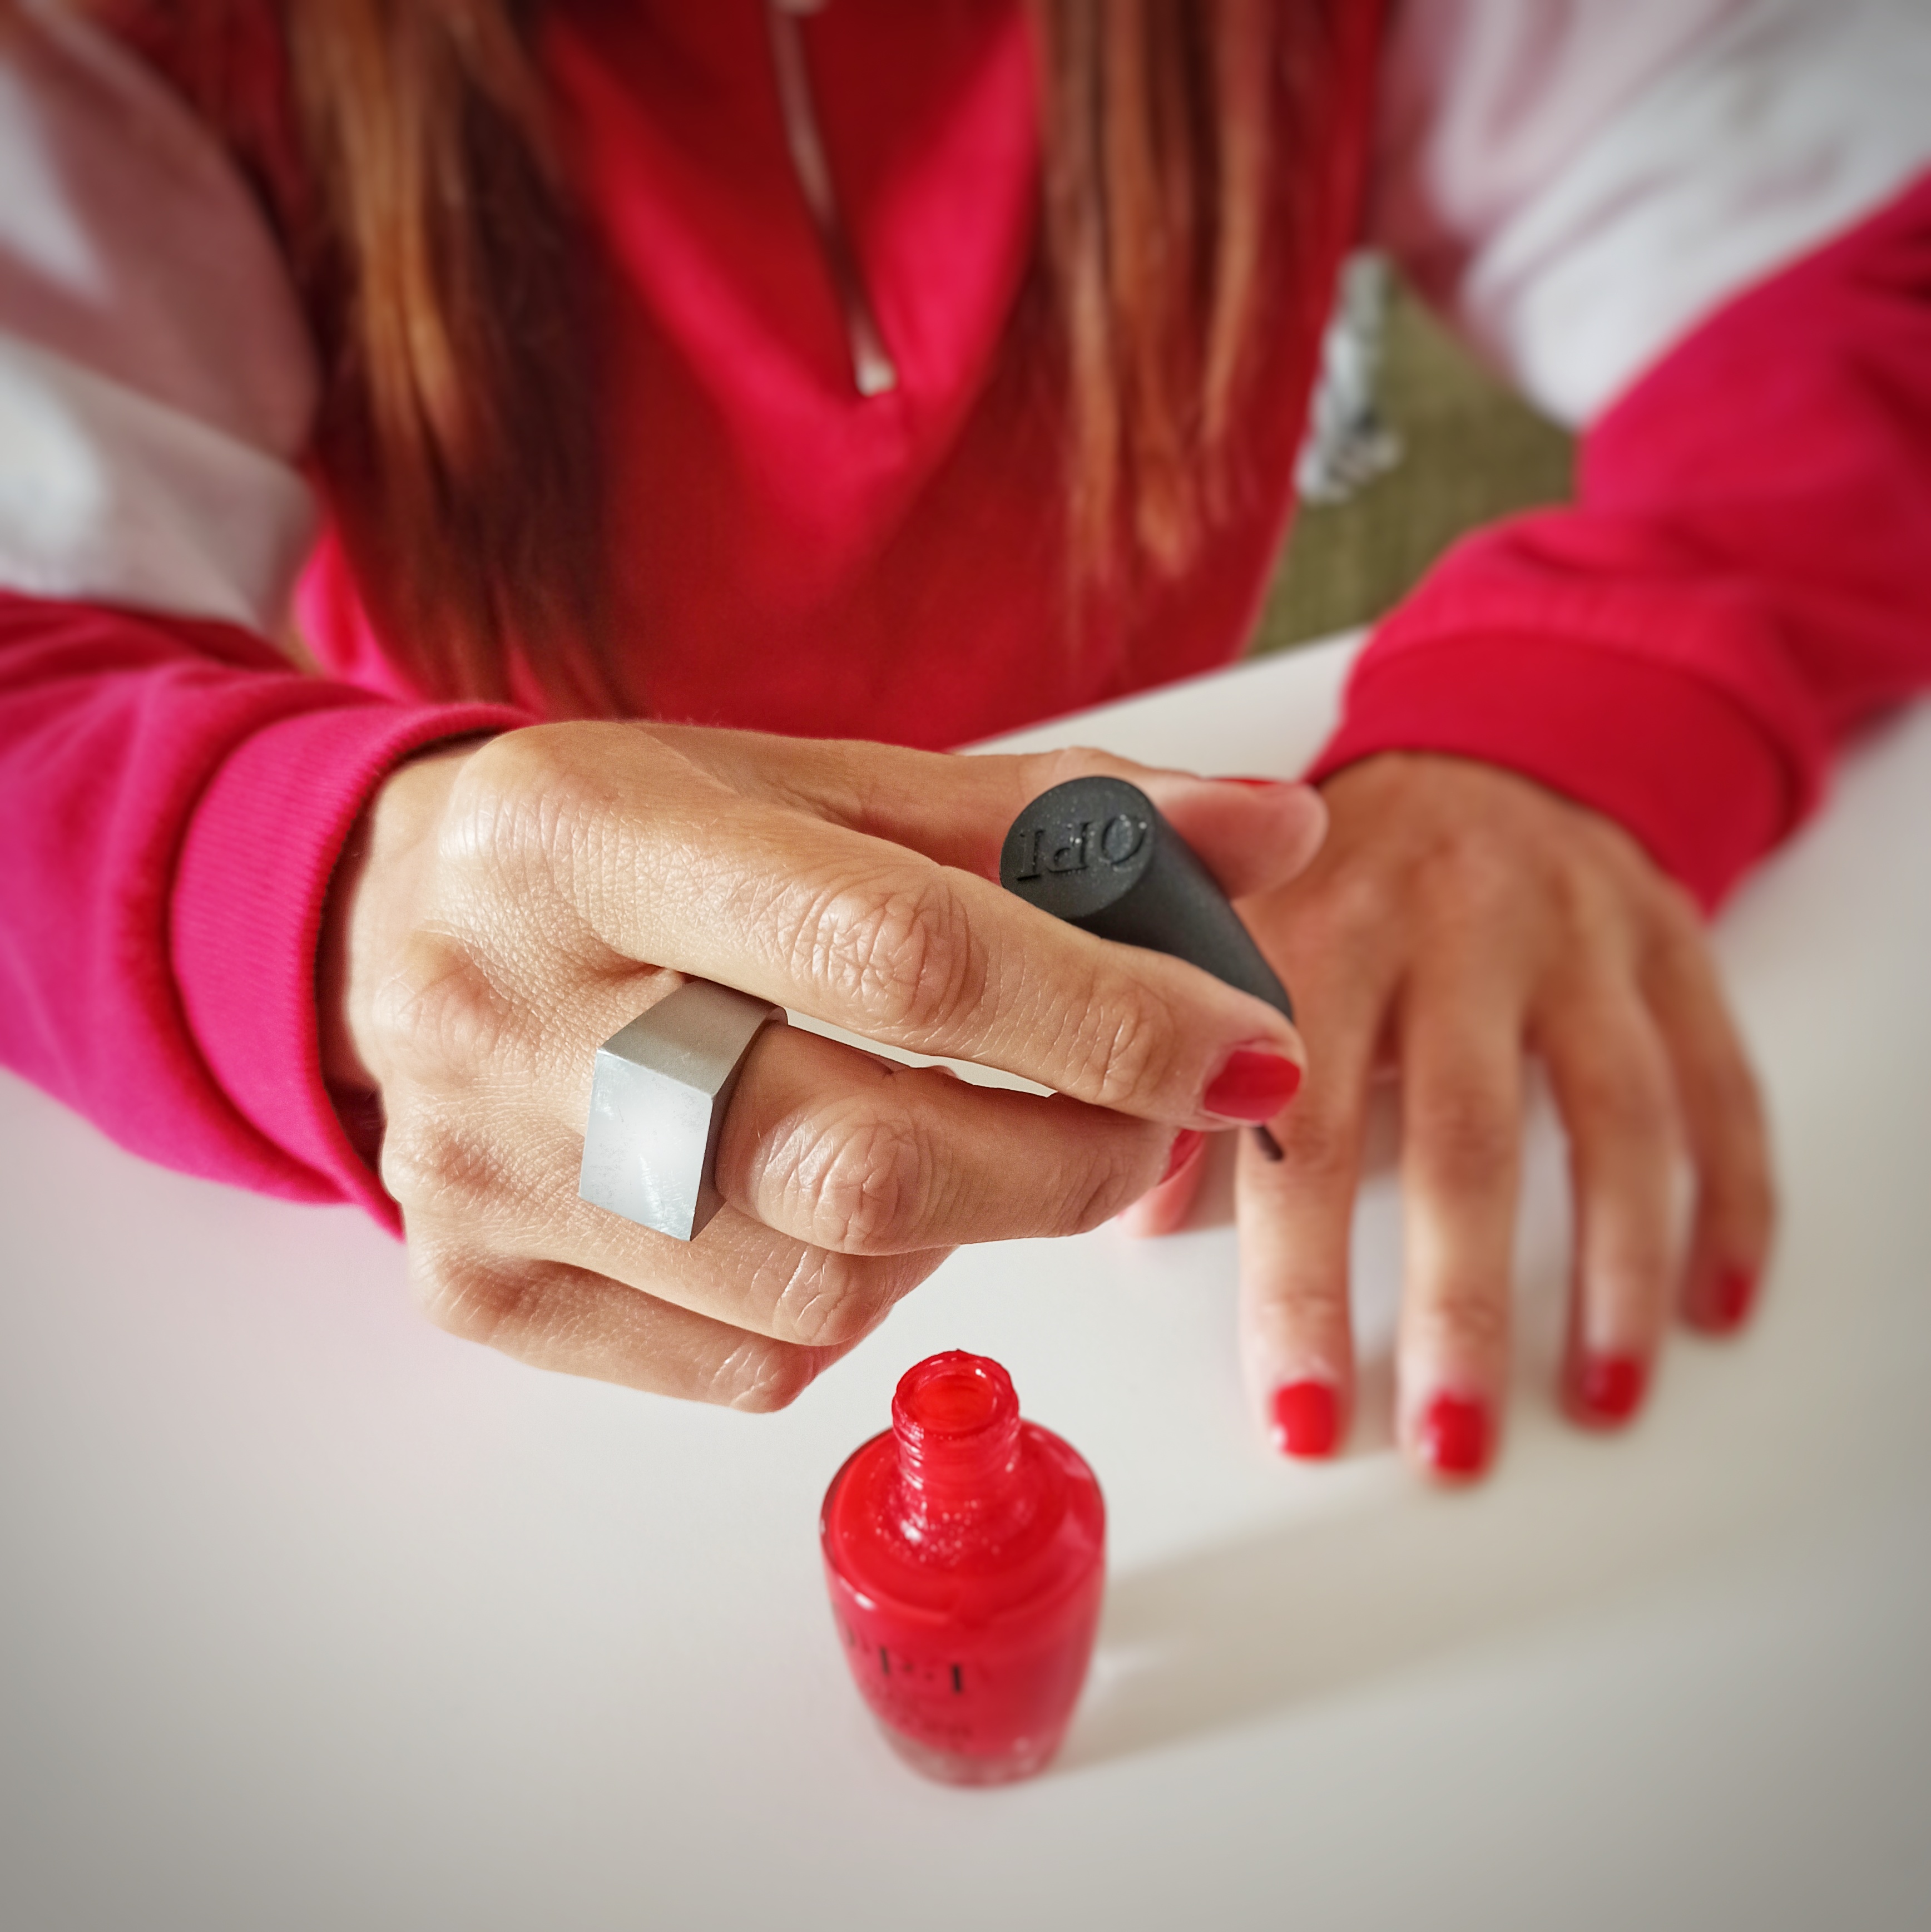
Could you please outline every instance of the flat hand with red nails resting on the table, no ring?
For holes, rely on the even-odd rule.
[[[1564,1397],[1614,1426],[1672,1302],[1736,1327],[1771,1238],[1755,1082],[1690,898],[1609,819],[1489,765],[1383,753],[1325,786],[1332,829],[1242,906],[1294,989],[1311,1070],[1240,1148],[1242,1345],[1284,1449],[1327,1455],[1352,1395],[1348,1236],[1369,1082],[1402,1094],[1398,1432],[1439,1476],[1495,1449],[1508,1372],[1524,1059],[1570,1144],[1576,1254]],[[1678,1236],[1684,1157],[1695,1179]],[[1176,1225],[1182,1169],[1130,1225]]]

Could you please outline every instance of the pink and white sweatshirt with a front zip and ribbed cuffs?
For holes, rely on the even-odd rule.
[[[315,541],[313,357],[261,216],[151,71],[31,17],[0,48],[0,182],[41,195],[0,193],[0,1055],[141,1153],[396,1225],[319,1072],[330,869],[400,757],[525,715],[402,686]],[[1587,440],[1574,508],[1462,545],[1381,628],[1319,771],[1491,759],[1715,904],[1931,678],[1931,35],[1898,0],[1574,0],[1560,33],[1417,0],[1371,112],[1357,17],[1319,249],[1369,222]],[[807,31],[896,369],[869,398],[761,8],[552,12],[653,711],[944,746],[1238,655],[1311,334],[1271,348],[1201,566],[1070,651],[1056,404],[1010,327],[1020,10],[834,0]],[[1757,178],[1726,116],[1765,99]],[[270,641],[297,572],[326,676]]]

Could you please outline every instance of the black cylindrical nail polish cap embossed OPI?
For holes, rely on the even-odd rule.
[[[1213,873],[1126,779],[1041,792],[1006,833],[998,883],[1068,925],[1170,952],[1294,1018],[1288,989]]]

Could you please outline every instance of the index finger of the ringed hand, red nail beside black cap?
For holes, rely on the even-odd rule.
[[[612,976],[639,960],[676,966],[873,1039],[1178,1124],[1267,1119],[1300,1084],[1294,1028],[1195,966],[1095,939],[989,879],[693,782],[678,765],[610,757],[558,771],[527,742],[541,736],[508,734],[463,767],[458,788],[477,786],[467,837],[531,842],[516,864],[560,887]],[[518,773],[518,759],[535,769]],[[510,831],[504,784],[541,806],[512,813]],[[506,954],[510,970],[548,958],[541,947]]]

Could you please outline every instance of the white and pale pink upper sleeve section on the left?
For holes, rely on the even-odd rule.
[[[280,628],[317,367],[234,164],[102,33],[0,19],[0,583]]]

